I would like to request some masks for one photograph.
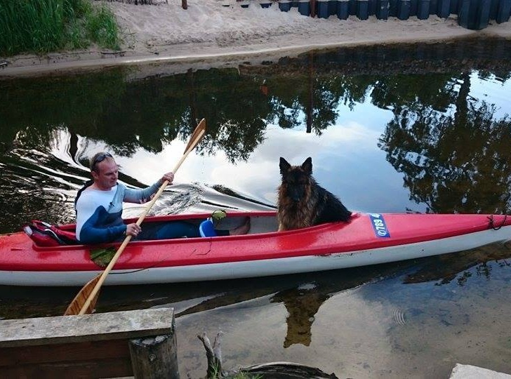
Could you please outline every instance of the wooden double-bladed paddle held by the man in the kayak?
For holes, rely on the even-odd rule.
[[[181,166],[183,161],[185,161],[188,154],[192,152],[194,147],[197,146],[204,133],[206,133],[206,120],[202,119],[201,122],[199,122],[199,125],[197,125],[197,128],[195,128],[194,132],[192,133],[190,141],[188,142],[188,145],[185,148],[183,157],[181,157],[180,161],[178,161],[178,164],[175,165],[172,171],[173,173],[175,173],[175,171],[178,171],[178,168]],[[149,213],[150,209],[161,195],[161,192],[164,192],[164,189],[167,185],[168,180],[165,180],[161,187],[159,187],[158,192],[154,194],[154,197],[152,198],[150,203],[147,204],[145,210],[142,212],[142,215],[140,215],[140,217],[138,218],[137,220],[138,226],[142,224],[142,221],[144,220],[145,216],[147,215],[147,213]],[[83,288],[81,288],[80,292],[75,296],[75,298],[67,307],[67,310],[64,313],[65,316],[93,312],[95,303],[98,300],[98,293],[100,291],[100,287],[102,286],[105,279],[107,279],[108,273],[112,270],[112,267],[114,267],[115,263],[117,262],[117,259],[124,251],[124,248],[126,248],[126,245],[128,245],[129,241],[131,241],[131,235],[128,234],[124,241],[122,242],[121,246],[119,246],[119,249],[115,253],[110,263],[107,265],[105,271],[103,271],[102,274],[99,274],[97,277],[91,279],[91,281],[88,281],[88,283]]]

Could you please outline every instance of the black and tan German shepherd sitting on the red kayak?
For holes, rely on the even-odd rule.
[[[282,175],[277,204],[279,231],[350,220],[351,212],[343,203],[312,178],[311,157],[301,166],[291,166],[281,157],[279,168]]]

